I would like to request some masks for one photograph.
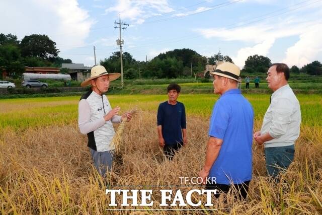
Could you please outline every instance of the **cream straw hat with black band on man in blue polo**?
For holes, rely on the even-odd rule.
[[[236,66],[233,63],[230,62],[223,62],[220,65],[217,66],[217,68],[210,73],[212,75],[222,76],[228,79],[235,80],[237,82],[241,82],[241,80],[238,80],[240,76],[240,69],[238,66]]]

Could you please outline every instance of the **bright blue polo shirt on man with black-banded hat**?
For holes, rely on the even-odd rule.
[[[210,118],[209,136],[223,140],[209,177],[217,184],[240,184],[252,179],[254,111],[239,89],[221,95]]]

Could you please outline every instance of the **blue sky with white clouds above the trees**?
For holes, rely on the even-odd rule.
[[[303,66],[322,61],[322,0],[0,0],[0,33],[46,34],[60,56],[94,64],[118,51],[137,60],[190,48],[204,56],[229,55],[240,67],[249,55]]]

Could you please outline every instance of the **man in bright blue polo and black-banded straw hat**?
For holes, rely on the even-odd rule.
[[[252,179],[253,107],[237,89],[238,66],[224,62],[210,74],[220,97],[210,118],[206,161],[199,177],[207,189],[217,189],[216,197],[234,186],[239,198],[246,199]]]

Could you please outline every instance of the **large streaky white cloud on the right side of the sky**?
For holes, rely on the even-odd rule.
[[[311,14],[316,15],[316,13]],[[306,17],[309,20],[310,17]],[[276,39],[287,38],[290,36],[299,36],[300,40],[289,47],[286,51],[286,57],[283,62],[288,65],[302,66],[311,62],[321,52],[322,40],[316,35],[321,35],[322,25],[319,20],[303,22],[294,17],[288,17],[274,22],[260,23],[253,26],[236,28],[213,28],[213,29],[194,29],[205,38],[219,38],[225,41],[243,41],[254,43],[253,46],[241,48],[233,61],[240,67],[243,67],[248,56],[254,54],[267,55],[270,48],[274,45]]]

